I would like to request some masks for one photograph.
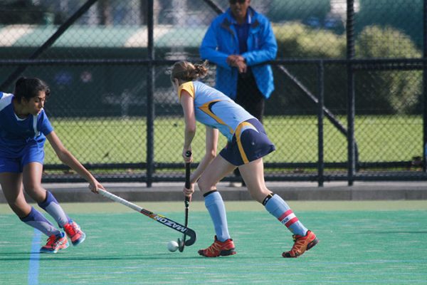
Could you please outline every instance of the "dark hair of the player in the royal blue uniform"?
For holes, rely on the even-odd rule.
[[[51,95],[51,89],[39,78],[26,78],[21,77],[15,83],[14,96],[18,102],[21,102],[22,98],[30,100],[33,97],[37,97],[40,91],[44,91],[46,98]]]

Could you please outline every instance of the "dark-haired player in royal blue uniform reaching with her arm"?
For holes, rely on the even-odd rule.
[[[65,214],[52,193],[41,186],[46,138],[58,158],[89,182],[90,190],[96,192],[103,187],[60,142],[43,110],[49,95],[49,87],[38,78],[19,78],[14,94],[0,92],[0,185],[19,219],[48,236],[40,252],[56,253],[68,247],[68,238],[73,245],[83,242],[85,233]],[[26,202],[23,190],[56,220],[60,229]]]

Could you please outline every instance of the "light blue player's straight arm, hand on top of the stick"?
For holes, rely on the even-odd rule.
[[[194,99],[186,90],[181,90],[180,103],[184,111],[184,147],[182,150],[182,157],[185,162],[192,162],[193,156],[187,157],[186,152],[191,152],[191,142],[196,135],[196,114],[194,113]]]

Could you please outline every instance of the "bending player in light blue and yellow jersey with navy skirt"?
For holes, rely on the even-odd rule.
[[[196,134],[196,121],[206,126],[206,153],[199,166],[191,173],[190,189],[184,187],[184,195],[191,197],[197,182],[205,199],[205,205],[214,222],[214,243],[200,249],[204,257],[219,257],[236,254],[233,239],[228,232],[226,209],[216,184],[236,167],[248,187],[251,197],[262,203],[265,209],[284,224],[293,234],[294,245],[283,257],[299,257],[314,247],[318,239],[297,219],[288,204],[265,186],[263,157],[275,150],[267,137],[263,125],[215,88],[196,81],[207,73],[204,64],[179,61],[172,67],[171,81],[184,110],[185,130],[182,157],[191,162],[191,142]],[[228,142],[216,155],[218,133]],[[268,243],[266,243],[267,245]]]

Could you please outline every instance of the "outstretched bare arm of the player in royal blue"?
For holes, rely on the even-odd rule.
[[[72,170],[77,172],[81,177],[85,178],[89,182],[89,189],[92,192],[97,192],[98,188],[104,189],[104,187],[97,182],[95,177],[69,152],[63,145],[63,143],[56,135],[55,131],[52,131],[46,135],[49,143],[52,145],[53,150],[55,150],[56,155],[61,162],[65,165],[68,165]]]

